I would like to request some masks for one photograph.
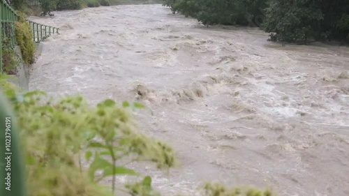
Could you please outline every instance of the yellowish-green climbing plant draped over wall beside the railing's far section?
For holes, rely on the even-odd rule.
[[[35,62],[36,50],[31,27],[25,20],[26,16],[23,13],[17,12],[17,14],[19,15],[18,22],[15,22],[17,44],[20,46],[24,63],[30,65]]]

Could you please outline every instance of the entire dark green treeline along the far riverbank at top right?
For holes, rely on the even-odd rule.
[[[207,26],[248,25],[270,33],[273,41],[349,42],[348,0],[163,0],[172,13],[195,17]]]

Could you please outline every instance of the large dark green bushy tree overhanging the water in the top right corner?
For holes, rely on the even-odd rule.
[[[346,0],[270,0],[263,26],[273,41],[306,44],[309,40],[345,38],[348,11]]]

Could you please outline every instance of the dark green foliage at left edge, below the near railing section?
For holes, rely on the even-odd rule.
[[[11,47],[10,41],[9,38],[2,38],[2,70],[6,74],[15,75],[20,59]]]

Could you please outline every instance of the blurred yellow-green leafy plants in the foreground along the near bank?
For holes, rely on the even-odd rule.
[[[1,75],[0,89],[17,119],[29,196],[112,196],[115,190],[132,196],[160,195],[151,187],[150,176],[128,168],[140,161],[158,169],[176,165],[170,146],[136,130],[131,112],[142,105],[104,100],[90,107],[80,96],[56,99],[41,91],[21,92]],[[86,163],[87,168],[82,166]],[[116,176],[138,176],[140,181],[115,187]],[[99,183],[106,177],[112,178],[111,186]],[[210,183],[202,191],[206,196],[272,195],[270,190],[230,190]]]

